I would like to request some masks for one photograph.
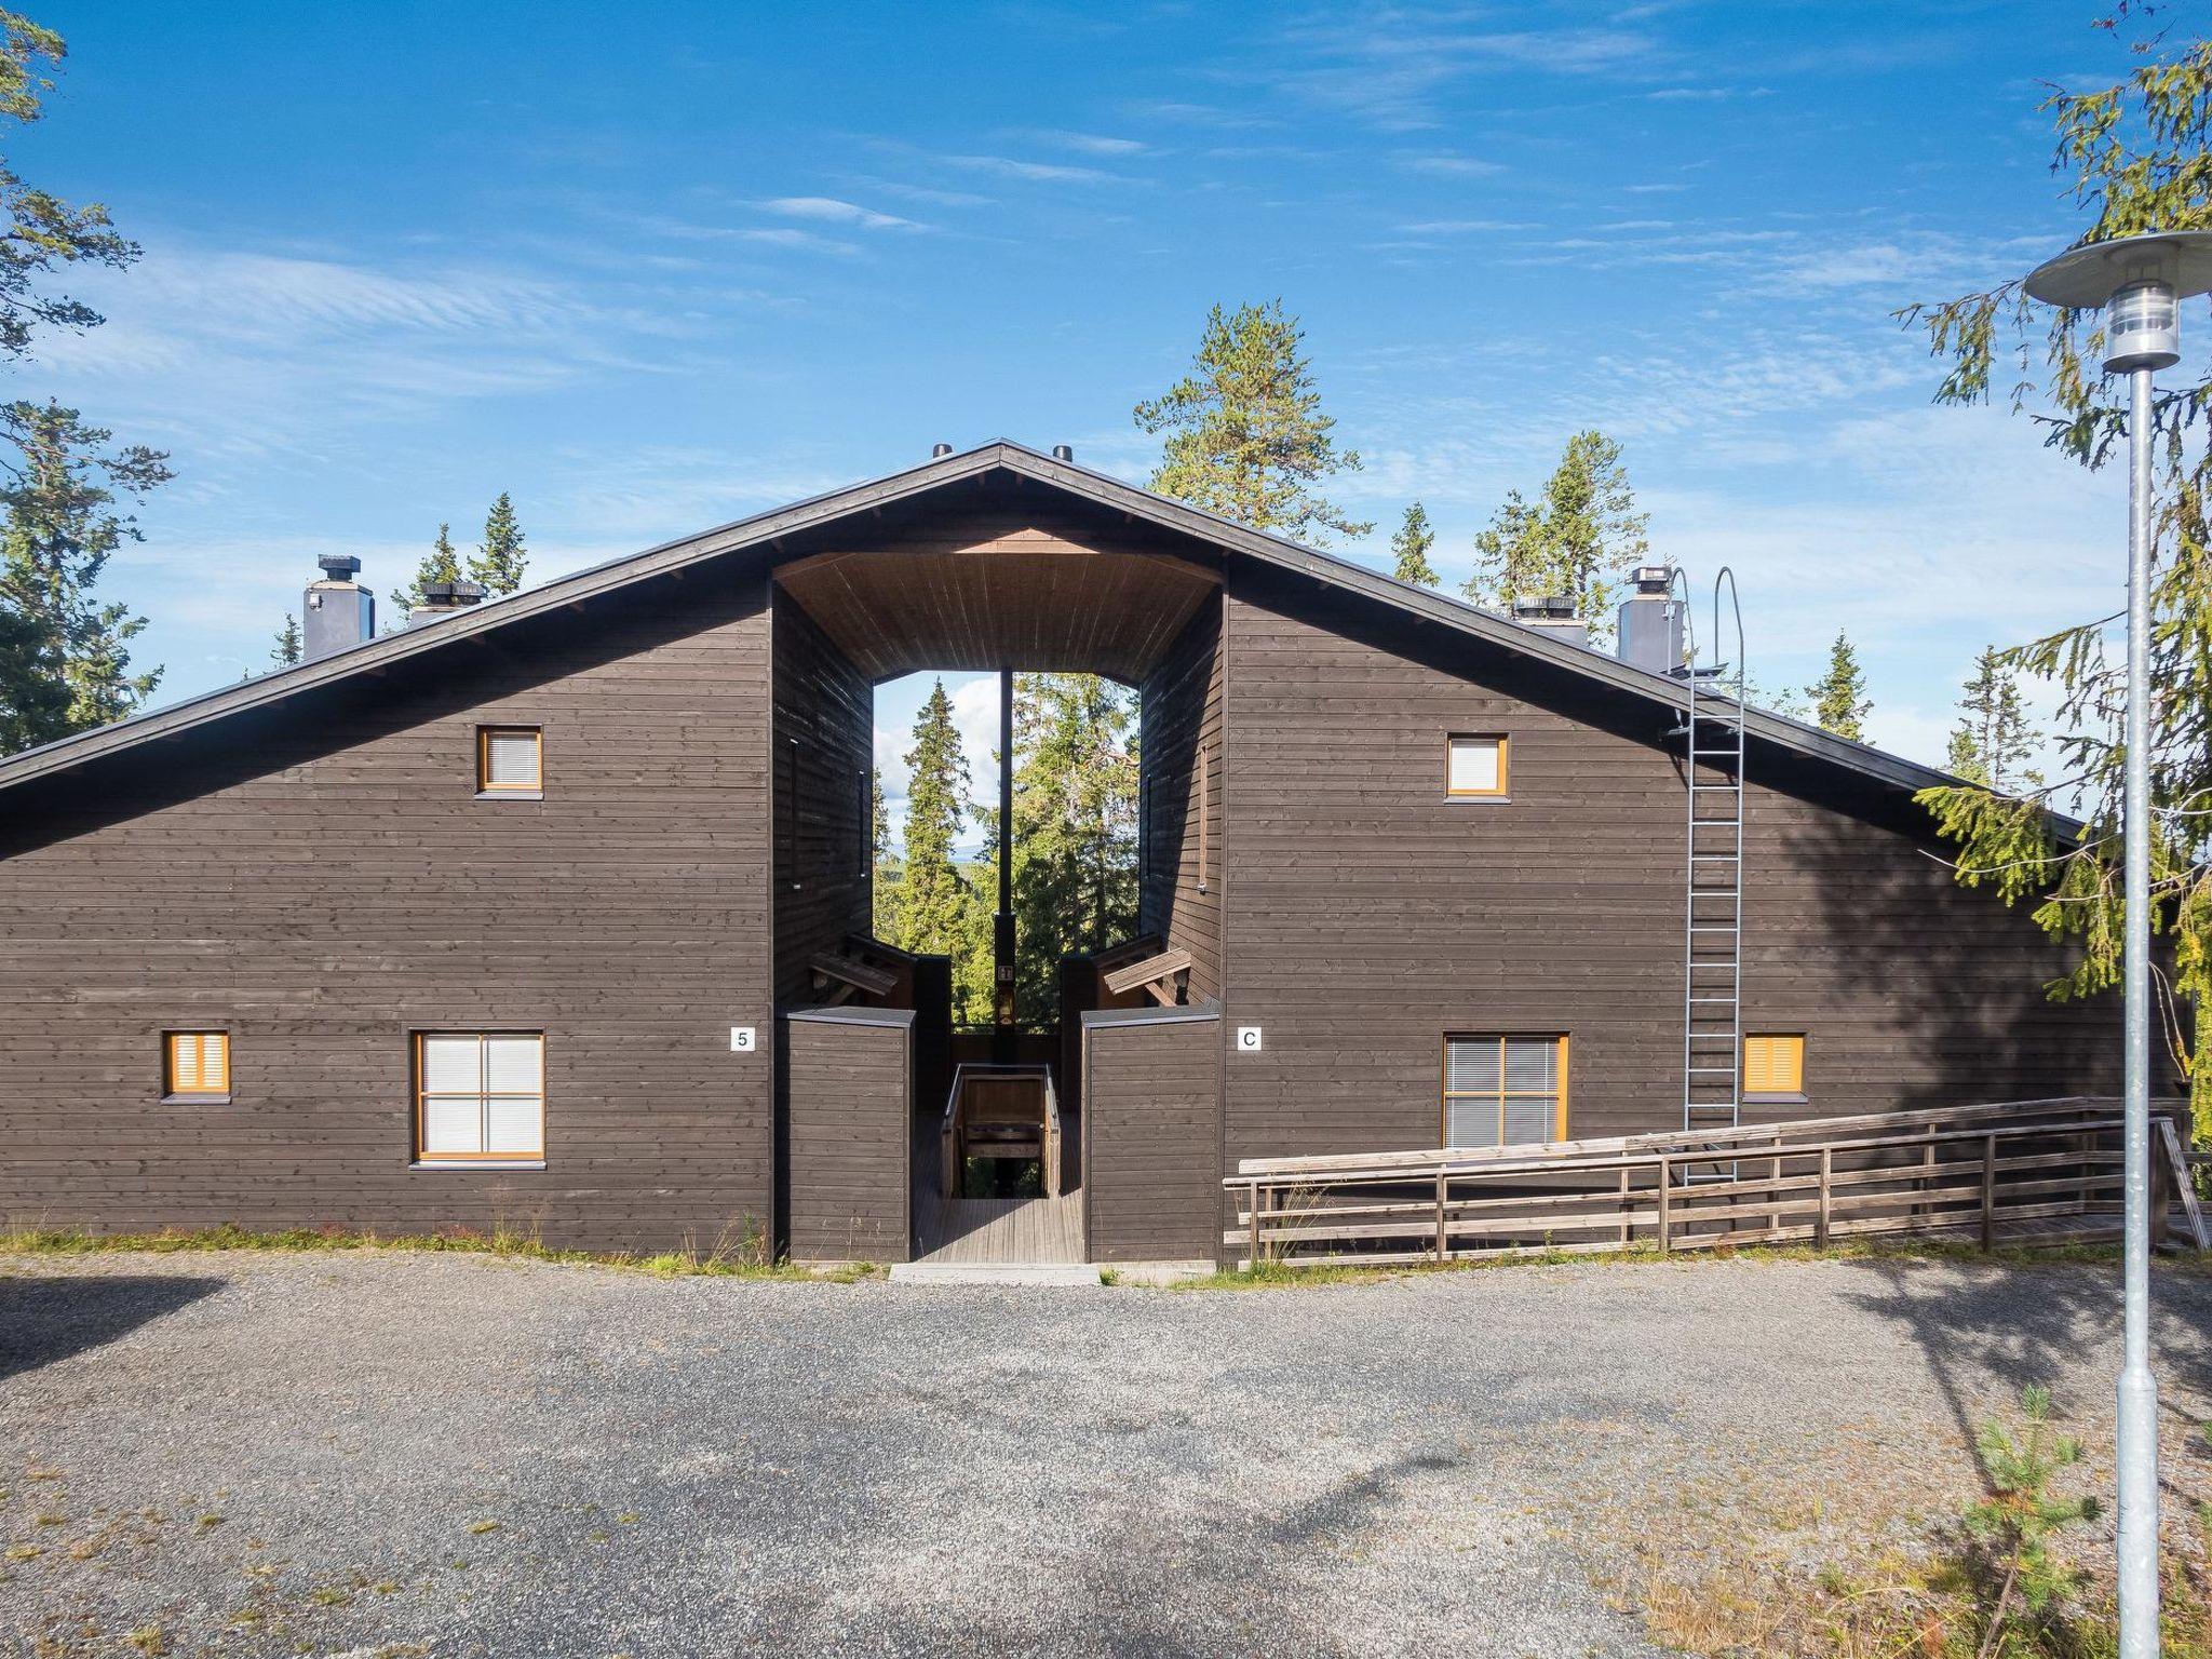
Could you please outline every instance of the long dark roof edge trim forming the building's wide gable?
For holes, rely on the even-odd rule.
[[[880,509],[891,502],[905,502],[947,484],[984,478],[993,471],[1015,473],[1020,478],[1048,484],[1075,500],[1128,513],[1130,518],[1141,518],[1161,529],[1212,542],[1263,564],[1296,571],[1321,584],[1391,606],[1400,613],[1425,617],[1442,628],[1515,650],[1535,661],[1571,670],[1590,681],[1644,697],[1663,708],[1679,710],[1683,706],[1683,686],[1679,679],[1635,668],[1601,650],[1593,650],[1590,646],[1568,644],[1540,628],[1526,628],[1491,611],[1480,611],[1471,604],[1436,593],[1433,588],[1409,586],[1378,571],[1369,571],[1365,564],[1321,553],[1283,535],[1248,529],[1245,524],[1237,524],[1219,513],[1208,513],[1206,509],[1190,507],[1188,502],[1155,495],[1152,491],[1126,484],[1119,478],[1108,478],[1106,473],[1091,471],[1088,467],[1055,460],[1053,456],[1044,456],[1026,445],[1000,438],[998,442],[987,442],[956,456],[931,458],[920,467],[909,467],[907,471],[889,473],[865,484],[852,484],[849,489],[814,495],[810,500],[794,502],[792,507],[779,507],[768,513],[757,513],[754,518],[741,518],[732,524],[703,531],[701,535],[661,542],[659,546],[650,546],[641,553],[630,553],[573,575],[555,577],[553,582],[529,588],[526,593],[515,593],[504,599],[493,599],[471,611],[442,617],[431,626],[407,628],[378,639],[367,639],[358,646],[349,646],[347,650],[332,653],[330,657],[319,657],[316,661],[279,668],[274,672],[239,681],[237,686],[188,697],[181,703],[133,714],[115,721],[113,726],[100,726],[91,732],[77,732],[75,737],[42,743],[40,748],[24,750],[0,761],[0,790],[53,776],[58,772],[69,772],[86,761],[111,757],[139,743],[177,737],[212,721],[221,721],[230,714],[268,708],[285,701],[288,697],[319,690],[334,681],[378,672],[389,664],[405,661],[409,657],[447,650],[465,639],[495,633],[509,624],[524,622],[526,617],[582,604],[706,560],[750,549],[774,551],[783,538],[799,531],[830,524],[852,513]],[[1856,772],[1898,790],[1924,790],[1938,783],[1958,783],[1958,779],[1947,772],[1938,772],[1936,768],[1907,761],[1900,754],[1889,754],[1867,743],[1854,743],[1832,732],[1823,732],[1816,726],[1805,726],[1803,721],[1772,714],[1761,708],[1745,712],[1745,732],[1812,761],[1845,768],[1847,772]]]

